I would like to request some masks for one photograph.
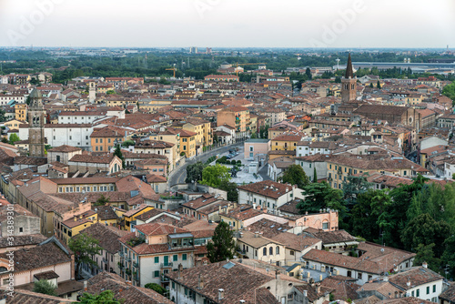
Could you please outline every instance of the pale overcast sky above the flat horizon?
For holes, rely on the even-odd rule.
[[[455,1],[0,0],[0,46],[32,44],[455,49]]]

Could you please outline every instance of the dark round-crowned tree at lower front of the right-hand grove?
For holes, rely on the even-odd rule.
[[[401,240],[405,249],[415,251],[420,244],[428,246],[431,243],[443,244],[450,236],[450,226],[445,221],[436,221],[428,213],[423,213],[417,218],[410,220],[401,234]],[[434,248],[436,257],[440,257],[444,248]]]

